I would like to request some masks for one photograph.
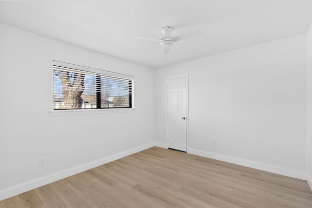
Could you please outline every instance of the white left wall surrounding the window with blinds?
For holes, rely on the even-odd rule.
[[[154,146],[153,69],[5,24],[0,31],[0,200]],[[51,116],[53,60],[135,76],[136,111]]]

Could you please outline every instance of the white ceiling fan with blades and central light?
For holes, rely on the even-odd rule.
[[[135,36],[134,38],[160,42],[160,45],[164,48],[163,54],[165,55],[165,54],[170,53],[170,47],[173,46],[174,42],[189,39],[189,38],[194,38],[194,37],[201,35],[201,31],[199,29],[197,29],[197,30],[187,32],[187,33],[184,33],[184,34],[176,36],[176,37],[171,37],[171,35],[170,35],[171,31],[172,31],[172,29],[169,26],[161,28],[161,32],[163,34],[163,37],[160,40],[154,39],[154,38],[141,37],[141,36]]]

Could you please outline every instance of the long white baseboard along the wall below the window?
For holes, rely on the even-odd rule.
[[[120,159],[120,158],[128,156],[130,154],[134,154],[134,153],[137,153],[139,151],[149,149],[149,148],[154,147],[154,146],[156,146],[154,142],[149,143],[149,144],[142,145],[140,147],[137,147],[137,148],[134,148],[131,150],[119,152],[119,153],[116,153],[116,154],[113,154],[113,155],[110,155],[110,156],[107,156],[107,157],[104,157],[104,158],[101,158],[98,160],[91,161],[89,163],[85,163],[85,164],[82,164],[82,165],[79,165],[79,166],[76,166],[73,168],[69,168],[69,169],[62,170],[62,171],[59,171],[59,172],[56,172],[56,173],[53,173],[50,175],[46,175],[46,176],[37,178],[35,180],[27,181],[25,183],[22,183],[22,184],[19,184],[19,185],[16,185],[16,186],[13,186],[13,187],[10,187],[7,189],[2,189],[2,190],[0,190],[0,201],[3,199],[7,199],[9,197],[18,195],[18,194],[23,193],[25,191],[28,191],[31,189],[36,189],[36,188],[44,186],[46,184],[58,181],[60,179],[63,179],[63,178],[66,178],[68,176],[77,174],[79,172],[98,167],[98,166],[103,165],[105,163],[112,162],[114,160]]]

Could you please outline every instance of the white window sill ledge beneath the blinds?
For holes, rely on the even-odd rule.
[[[53,110],[50,115],[82,115],[82,114],[98,114],[98,113],[130,113],[136,112],[134,108],[127,109],[79,109],[79,110]]]

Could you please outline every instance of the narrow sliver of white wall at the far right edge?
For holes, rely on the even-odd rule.
[[[312,189],[312,25],[307,33],[307,179]]]

